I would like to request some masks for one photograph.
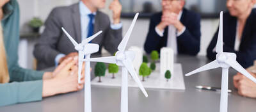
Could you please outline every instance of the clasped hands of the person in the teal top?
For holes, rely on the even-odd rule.
[[[76,92],[83,89],[84,70],[81,74],[81,83],[77,81],[77,60],[68,58],[57,67],[52,74],[52,79],[43,81],[42,97],[49,97],[59,93]]]

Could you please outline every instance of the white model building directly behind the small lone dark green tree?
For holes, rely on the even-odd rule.
[[[174,54],[170,47],[163,47],[160,51],[160,74],[164,75],[166,70],[170,70],[173,74]]]

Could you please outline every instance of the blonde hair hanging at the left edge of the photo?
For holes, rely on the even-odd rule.
[[[3,28],[0,22],[0,83],[8,83],[10,76],[6,61],[6,52],[4,48]]]

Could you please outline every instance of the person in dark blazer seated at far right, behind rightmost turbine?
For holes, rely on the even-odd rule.
[[[256,10],[255,0],[227,1],[228,12],[223,13],[223,51],[234,52],[236,60],[244,68],[253,65],[256,60]],[[218,30],[207,48],[207,57],[216,59],[215,46]]]

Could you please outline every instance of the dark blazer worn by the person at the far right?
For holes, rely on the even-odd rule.
[[[243,34],[241,37],[241,44],[239,51],[234,50],[236,41],[236,25],[237,18],[232,17],[229,12],[223,13],[223,51],[234,52],[237,55],[237,61],[244,68],[253,65],[253,61],[256,60],[256,10],[252,10],[252,13],[246,20]],[[213,49],[216,46],[218,31],[213,36],[209,47],[207,48],[207,57],[210,60],[216,59],[216,52]]]

